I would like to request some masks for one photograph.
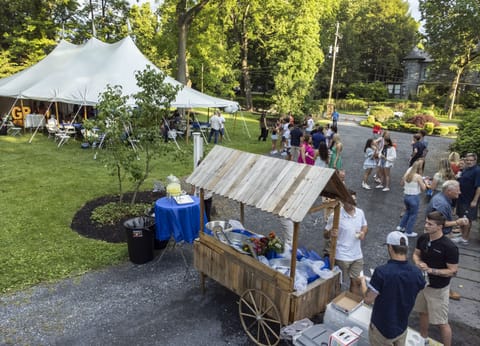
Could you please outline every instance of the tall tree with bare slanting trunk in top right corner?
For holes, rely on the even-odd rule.
[[[426,48],[437,71],[453,72],[445,110],[453,116],[462,75],[479,61],[480,2],[478,0],[420,0],[425,20]]]

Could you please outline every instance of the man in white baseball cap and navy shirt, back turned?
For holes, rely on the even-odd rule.
[[[375,303],[368,338],[370,345],[405,345],[408,316],[426,282],[422,271],[407,261],[405,234],[390,232],[385,245],[390,259],[375,269],[365,294],[366,304]]]

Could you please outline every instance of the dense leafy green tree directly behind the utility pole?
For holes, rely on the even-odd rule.
[[[418,23],[405,0],[342,0],[336,15],[324,17],[325,52],[333,44],[335,22],[340,22],[336,85],[355,82],[398,82],[403,77],[402,59],[419,41]],[[326,95],[331,59],[322,67],[319,88]]]

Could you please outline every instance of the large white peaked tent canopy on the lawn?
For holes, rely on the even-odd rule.
[[[107,85],[122,86],[124,95],[139,91],[135,73],[150,65],[158,68],[137,48],[130,37],[113,44],[95,38],[83,45],[61,41],[37,64],[0,80],[0,96],[94,106]],[[167,83],[182,85],[171,77]],[[209,96],[184,86],[172,107],[227,107],[238,103]]]

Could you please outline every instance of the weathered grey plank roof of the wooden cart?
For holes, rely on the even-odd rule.
[[[351,201],[330,168],[251,154],[216,145],[187,183],[295,222],[319,195]]]

